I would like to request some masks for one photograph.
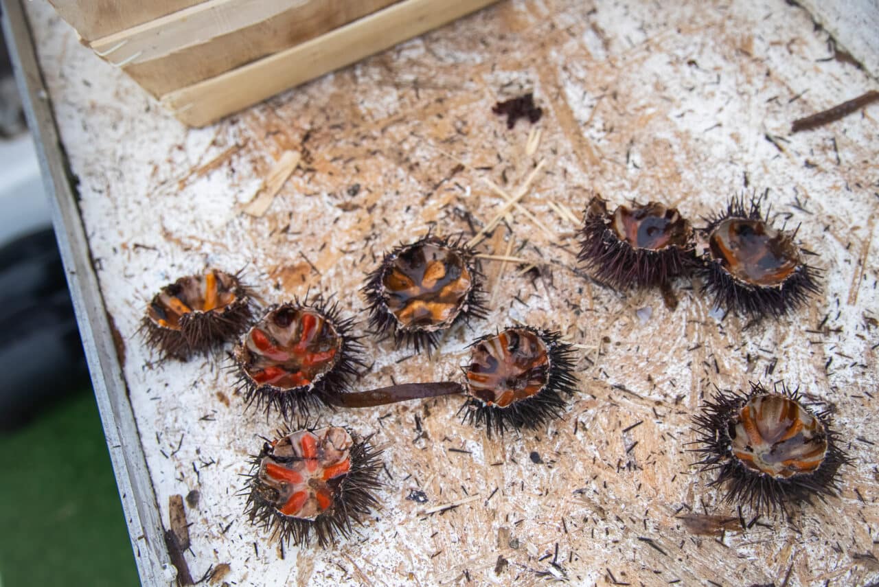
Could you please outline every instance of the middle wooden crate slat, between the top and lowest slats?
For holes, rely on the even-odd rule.
[[[214,0],[91,47],[154,96],[294,47],[400,0]],[[115,48],[115,50],[113,50]]]

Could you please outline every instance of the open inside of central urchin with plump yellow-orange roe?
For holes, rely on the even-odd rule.
[[[397,255],[381,284],[388,309],[403,328],[436,330],[461,312],[473,277],[457,251],[421,243]]]

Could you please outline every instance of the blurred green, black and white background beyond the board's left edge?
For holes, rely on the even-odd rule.
[[[0,587],[136,585],[40,169],[0,41]]]

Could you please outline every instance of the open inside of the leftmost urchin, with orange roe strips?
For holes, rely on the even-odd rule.
[[[236,300],[236,279],[225,272],[209,272],[178,279],[150,302],[147,313],[159,326],[180,330],[180,318],[193,311],[222,311]]]

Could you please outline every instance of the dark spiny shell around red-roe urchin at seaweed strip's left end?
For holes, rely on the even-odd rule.
[[[360,337],[352,334],[354,318],[343,318],[338,308],[338,301],[327,301],[321,295],[306,298],[304,301],[294,299],[286,304],[278,304],[268,308],[265,315],[280,308],[300,308],[311,310],[323,315],[327,322],[338,332],[342,339],[339,358],[333,368],[323,373],[320,380],[312,381],[301,388],[280,389],[270,384],[258,384],[244,370],[236,359],[233,366],[237,370],[236,393],[241,393],[248,407],[255,406],[265,410],[266,414],[277,410],[282,417],[308,416],[311,409],[323,405],[331,405],[328,398],[344,394],[351,380],[366,366],[363,362],[363,345]],[[239,346],[243,344],[238,343]]]

